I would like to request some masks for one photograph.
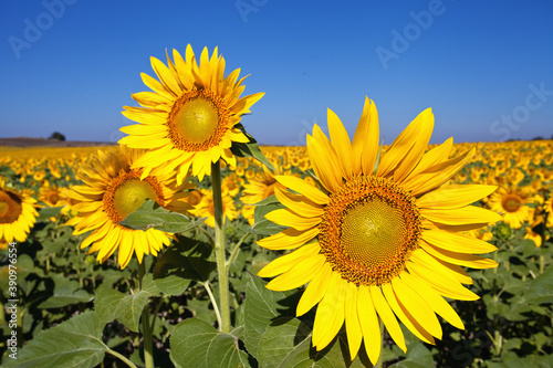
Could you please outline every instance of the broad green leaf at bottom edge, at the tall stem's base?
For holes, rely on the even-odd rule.
[[[250,367],[238,338],[196,318],[179,323],[170,337],[170,359],[177,368]]]

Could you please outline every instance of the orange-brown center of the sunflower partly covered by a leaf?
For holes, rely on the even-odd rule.
[[[140,172],[132,170],[112,181],[104,194],[104,208],[112,221],[121,222],[147,198],[164,206],[161,186],[153,177],[140,180]]]

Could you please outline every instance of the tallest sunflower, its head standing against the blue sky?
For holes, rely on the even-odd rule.
[[[124,106],[123,115],[140,124],[121,128],[129,136],[119,143],[148,149],[133,166],[144,167],[143,178],[163,166],[163,172],[177,169],[177,181],[181,183],[190,166],[200,180],[211,174],[211,162],[221,157],[236,166],[230,146],[233,141],[249,141],[237,124],[263,93],[239,98],[246,77],[238,80],[239,69],[223,76],[225,59],[218,55],[217,48],[211,59],[204,49],[199,66],[190,45],[185,59],[176,50],[173,59],[167,55],[166,66],[152,57],[159,82],[142,74],[144,84],[154,92],[132,95],[142,107]]]

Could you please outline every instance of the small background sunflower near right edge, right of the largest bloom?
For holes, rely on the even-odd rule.
[[[534,209],[530,203],[534,199],[525,187],[500,187],[488,200],[492,211],[503,213],[503,221],[513,229],[520,229],[524,222],[531,222]]]

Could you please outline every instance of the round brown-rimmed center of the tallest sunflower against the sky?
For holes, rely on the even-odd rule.
[[[229,116],[222,98],[211,91],[190,91],[175,102],[169,113],[168,136],[181,150],[207,150],[217,146],[230,128]]]

